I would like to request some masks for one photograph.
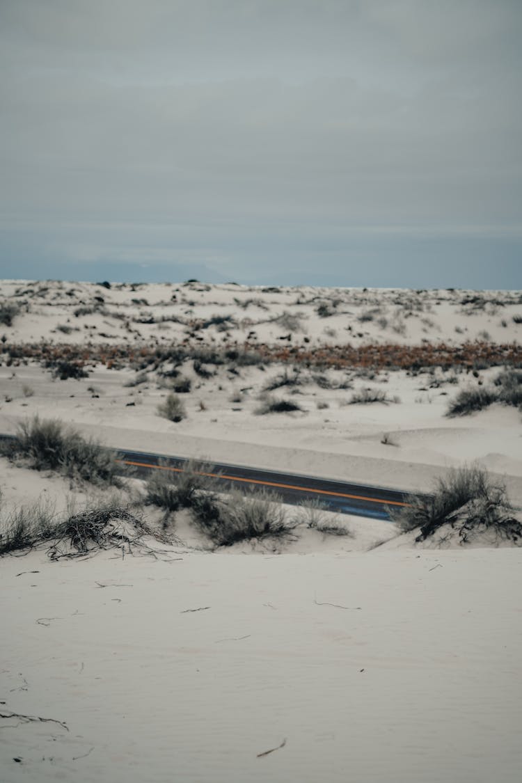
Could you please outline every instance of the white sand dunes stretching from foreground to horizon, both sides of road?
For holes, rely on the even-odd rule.
[[[519,292],[4,281],[5,303],[16,314],[0,327],[0,432],[38,413],[114,448],[408,491],[477,460],[522,507],[520,411],[445,416],[500,366],[301,364],[299,384],[272,391],[301,410],[257,415],[291,364],[207,363],[202,377],[189,358],[177,424],[157,415],[167,364],[139,366],[140,350],[169,345],[518,346]],[[60,381],[23,357],[42,343],[126,345],[134,358],[85,359],[88,377]],[[367,388],[387,402],[349,404]],[[101,493],[5,458],[0,490],[4,516]],[[210,551],[188,512],[175,524],[178,543],[149,542],[156,558],[52,562],[45,546],[2,557],[2,783],[519,781],[520,547],[449,536],[434,549],[390,522],[343,517],[348,536],[300,529]]]

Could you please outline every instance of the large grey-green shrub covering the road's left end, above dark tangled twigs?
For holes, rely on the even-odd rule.
[[[5,448],[8,456],[23,457],[38,471],[59,471],[93,484],[121,484],[117,477],[117,453],[103,448],[93,438],[84,438],[58,419],[41,420],[35,416],[24,421],[16,439]]]

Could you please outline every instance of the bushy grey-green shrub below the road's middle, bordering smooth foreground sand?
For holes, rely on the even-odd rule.
[[[193,520],[215,547],[251,539],[286,538],[291,535],[291,527],[286,524],[281,503],[279,496],[265,490],[247,496],[232,493],[225,499],[201,496],[193,503]]]

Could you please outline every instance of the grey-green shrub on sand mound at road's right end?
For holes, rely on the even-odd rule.
[[[404,532],[419,528],[417,542],[448,524],[459,529],[462,543],[486,529],[513,541],[522,536],[522,524],[513,517],[506,487],[495,484],[486,471],[474,465],[453,468],[437,479],[433,494],[410,496],[408,502],[401,511],[390,509],[390,515]]]

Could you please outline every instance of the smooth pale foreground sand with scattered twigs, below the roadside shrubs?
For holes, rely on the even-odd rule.
[[[515,783],[521,565],[5,559],[1,709],[67,729],[2,720],[2,781]]]

